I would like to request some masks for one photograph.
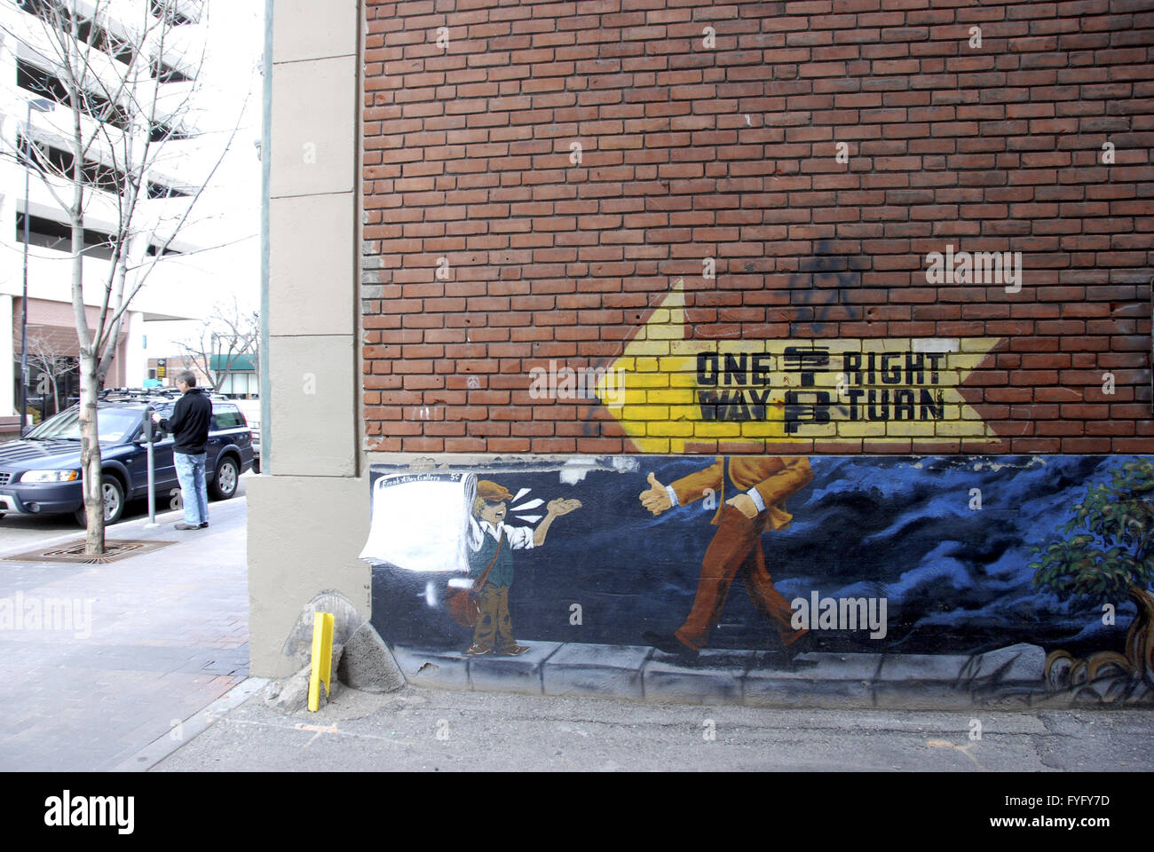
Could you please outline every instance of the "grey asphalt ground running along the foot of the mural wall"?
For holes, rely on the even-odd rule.
[[[253,692],[153,771],[1154,770],[1140,710],[773,710],[410,685],[284,715]]]

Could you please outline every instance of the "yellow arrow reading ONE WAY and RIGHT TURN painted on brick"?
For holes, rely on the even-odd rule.
[[[811,439],[997,440],[958,393],[997,337],[691,341],[680,286],[598,378],[642,453]]]

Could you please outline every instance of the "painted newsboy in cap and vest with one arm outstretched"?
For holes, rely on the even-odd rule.
[[[488,576],[477,593],[477,627],[473,629],[473,644],[465,651],[473,657],[494,651],[505,657],[516,657],[529,650],[514,640],[512,621],[509,618],[512,552],[540,547],[545,544],[545,536],[554,518],[580,508],[579,500],[559,498],[549,501],[545,520],[537,529],[505,526],[505,503],[512,499],[508,488],[489,479],[477,483],[477,500],[473,501],[473,514],[470,517],[469,576],[474,588],[486,573]]]

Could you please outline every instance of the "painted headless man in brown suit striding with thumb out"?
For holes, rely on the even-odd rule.
[[[729,585],[739,573],[754,605],[777,622],[784,647],[805,635],[808,630],[795,630],[789,623],[793,611],[765,569],[762,533],[789,525],[793,515],[786,511],[785,500],[812,478],[809,459],[801,456],[718,456],[709,468],[672,485],[662,485],[650,473],[650,488],[639,496],[642,506],[653,515],[709,493],[719,495],[719,506],[712,522],[718,529],[702,560],[689,616],[673,636],[646,633],[646,641],[669,653],[697,653],[721,618]]]

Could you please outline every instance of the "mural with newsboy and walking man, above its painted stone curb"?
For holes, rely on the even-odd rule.
[[[406,653],[789,668],[1028,647],[1051,693],[1152,695],[1145,457],[622,456],[372,481],[373,622]]]

